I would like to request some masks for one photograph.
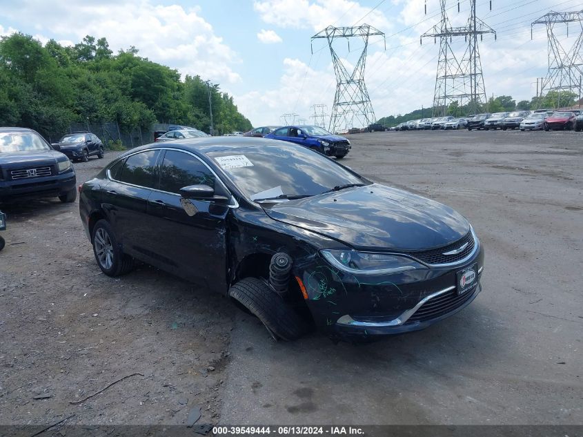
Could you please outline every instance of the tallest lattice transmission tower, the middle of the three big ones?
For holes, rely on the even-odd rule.
[[[446,0],[439,0],[442,9],[442,20],[431,30],[421,35],[424,38],[439,38],[439,60],[437,61],[437,77],[435,79],[435,94],[433,96],[433,117],[447,115],[448,106],[457,101],[458,106],[465,107],[468,114],[480,113],[482,104],[486,103],[486,88],[482,75],[482,61],[477,46],[477,37],[482,41],[483,35],[496,32],[484,21],[476,17],[476,0],[470,0],[470,18],[466,26],[453,27],[449,21]],[[460,2],[457,2],[460,12]],[[453,37],[464,37],[467,46],[460,57],[455,54]]]

